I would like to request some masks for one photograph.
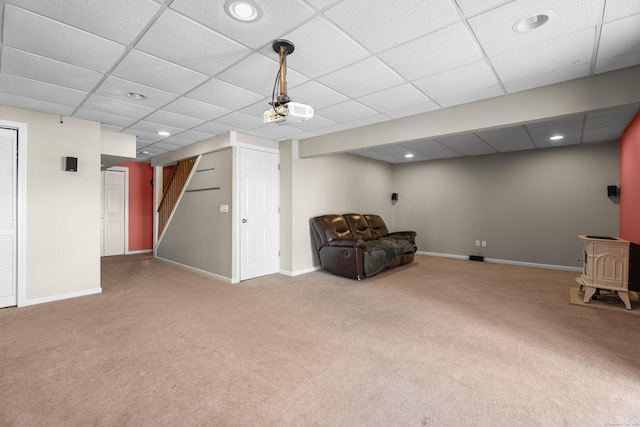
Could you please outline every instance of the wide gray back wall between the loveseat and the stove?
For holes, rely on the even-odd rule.
[[[579,267],[579,234],[618,234],[618,170],[617,141],[396,165],[392,228],[419,251]]]

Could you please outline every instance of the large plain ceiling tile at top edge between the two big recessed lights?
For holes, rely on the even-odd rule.
[[[449,0],[351,0],[325,12],[333,22],[373,52],[381,52],[459,22]]]

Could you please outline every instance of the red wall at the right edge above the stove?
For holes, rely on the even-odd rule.
[[[620,237],[640,243],[640,113],[620,137]]]

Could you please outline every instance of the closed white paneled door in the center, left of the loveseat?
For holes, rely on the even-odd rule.
[[[279,156],[240,149],[240,280],[278,272]]]

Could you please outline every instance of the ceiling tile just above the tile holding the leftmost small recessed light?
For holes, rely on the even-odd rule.
[[[190,91],[208,79],[202,73],[135,49],[124,57],[113,70],[112,75],[179,95]]]

